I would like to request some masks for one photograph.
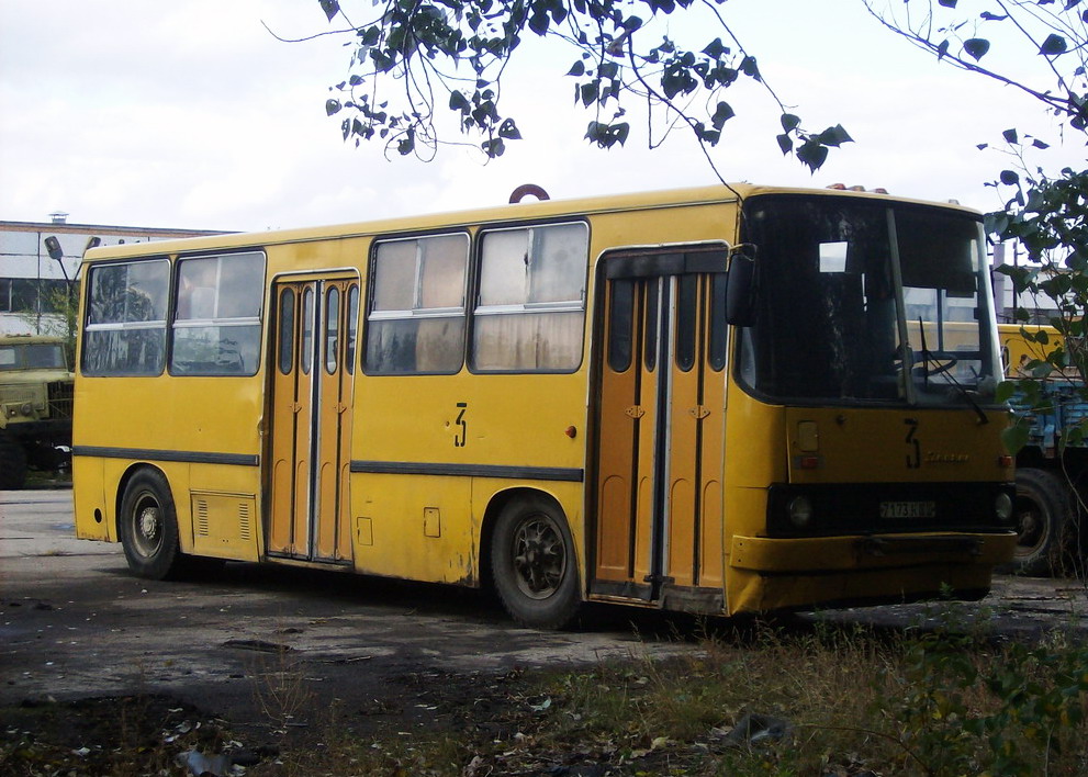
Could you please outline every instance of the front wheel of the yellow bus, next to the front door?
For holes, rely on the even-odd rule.
[[[498,516],[491,539],[491,570],[511,617],[535,629],[561,629],[581,605],[574,542],[550,499],[520,496]]]

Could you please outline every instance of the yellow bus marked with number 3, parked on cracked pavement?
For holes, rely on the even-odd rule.
[[[977,213],[748,184],[94,249],[77,533],[538,628],[977,597],[1016,544],[989,289]]]

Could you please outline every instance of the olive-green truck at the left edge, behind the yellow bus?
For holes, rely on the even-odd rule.
[[[74,379],[63,338],[0,336],[0,489],[68,463]]]

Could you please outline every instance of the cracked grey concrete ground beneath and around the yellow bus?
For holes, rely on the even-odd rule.
[[[989,597],[956,607],[1009,635],[1088,631],[1078,581],[999,576]],[[901,628],[933,617],[910,605],[798,621]],[[75,539],[70,491],[0,493],[0,706],[154,691],[244,719],[259,678],[290,665],[323,700],[381,708],[405,678],[698,650],[683,628],[654,611],[588,607],[579,628],[538,632],[480,592],[256,564],[144,581],[120,545]]]

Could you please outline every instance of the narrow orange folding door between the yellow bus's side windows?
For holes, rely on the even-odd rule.
[[[273,294],[267,554],[349,564],[359,282],[292,278],[278,281]]]

